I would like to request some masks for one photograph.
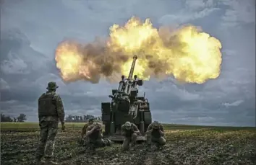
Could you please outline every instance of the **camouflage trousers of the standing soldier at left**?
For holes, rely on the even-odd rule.
[[[36,151],[37,159],[51,158],[54,154],[55,138],[58,132],[57,121],[40,121],[40,140]]]

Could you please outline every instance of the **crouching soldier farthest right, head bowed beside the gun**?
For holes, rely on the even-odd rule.
[[[163,125],[159,122],[154,121],[148,125],[148,130],[146,132],[148,146],[151,146],[151,143],[157,143],[158,148],[166,144],[166,139],[164,138]]]

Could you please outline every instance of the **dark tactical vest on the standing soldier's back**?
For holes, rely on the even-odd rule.
[[[43,94],[38,102],[39,116],[58,116],[54,102],[54,94]]]

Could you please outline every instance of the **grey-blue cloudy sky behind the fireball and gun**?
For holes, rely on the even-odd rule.
[[[108,27],[133,15],[150,18],[155,27],[194,24],[223,45],[218,79],[200,85],[172,78],[145,82],[140,94],[146,92],[154,120],[255,125],[254,0],[1,0],[1,112],[37,121],[37,99],[48,81],[56,81],[67,115],[101,115],[101,102],[110,101],[117,84],[65,84],[54,50],[65,38],[107,36]]]

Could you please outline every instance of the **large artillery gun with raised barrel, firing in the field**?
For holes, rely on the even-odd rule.
[[[102,122],[105,125],[103,135],[111,141],[123,141],[121,136],[121,125],[124,122],[132,122],[137,125],[141,135],[138,135],[137,141],[145,141],[145,131],[152,122],[150,104],[148,99],[138,97],[137,86],[143,85],[143,79],[137,79],[137,75],[132,79],[135,70],[137,55],[134,55],[129,76],[125,79],[121,76],[118,89],[112,89],[112,95],[109,95],[111,102],[101,103]]]

